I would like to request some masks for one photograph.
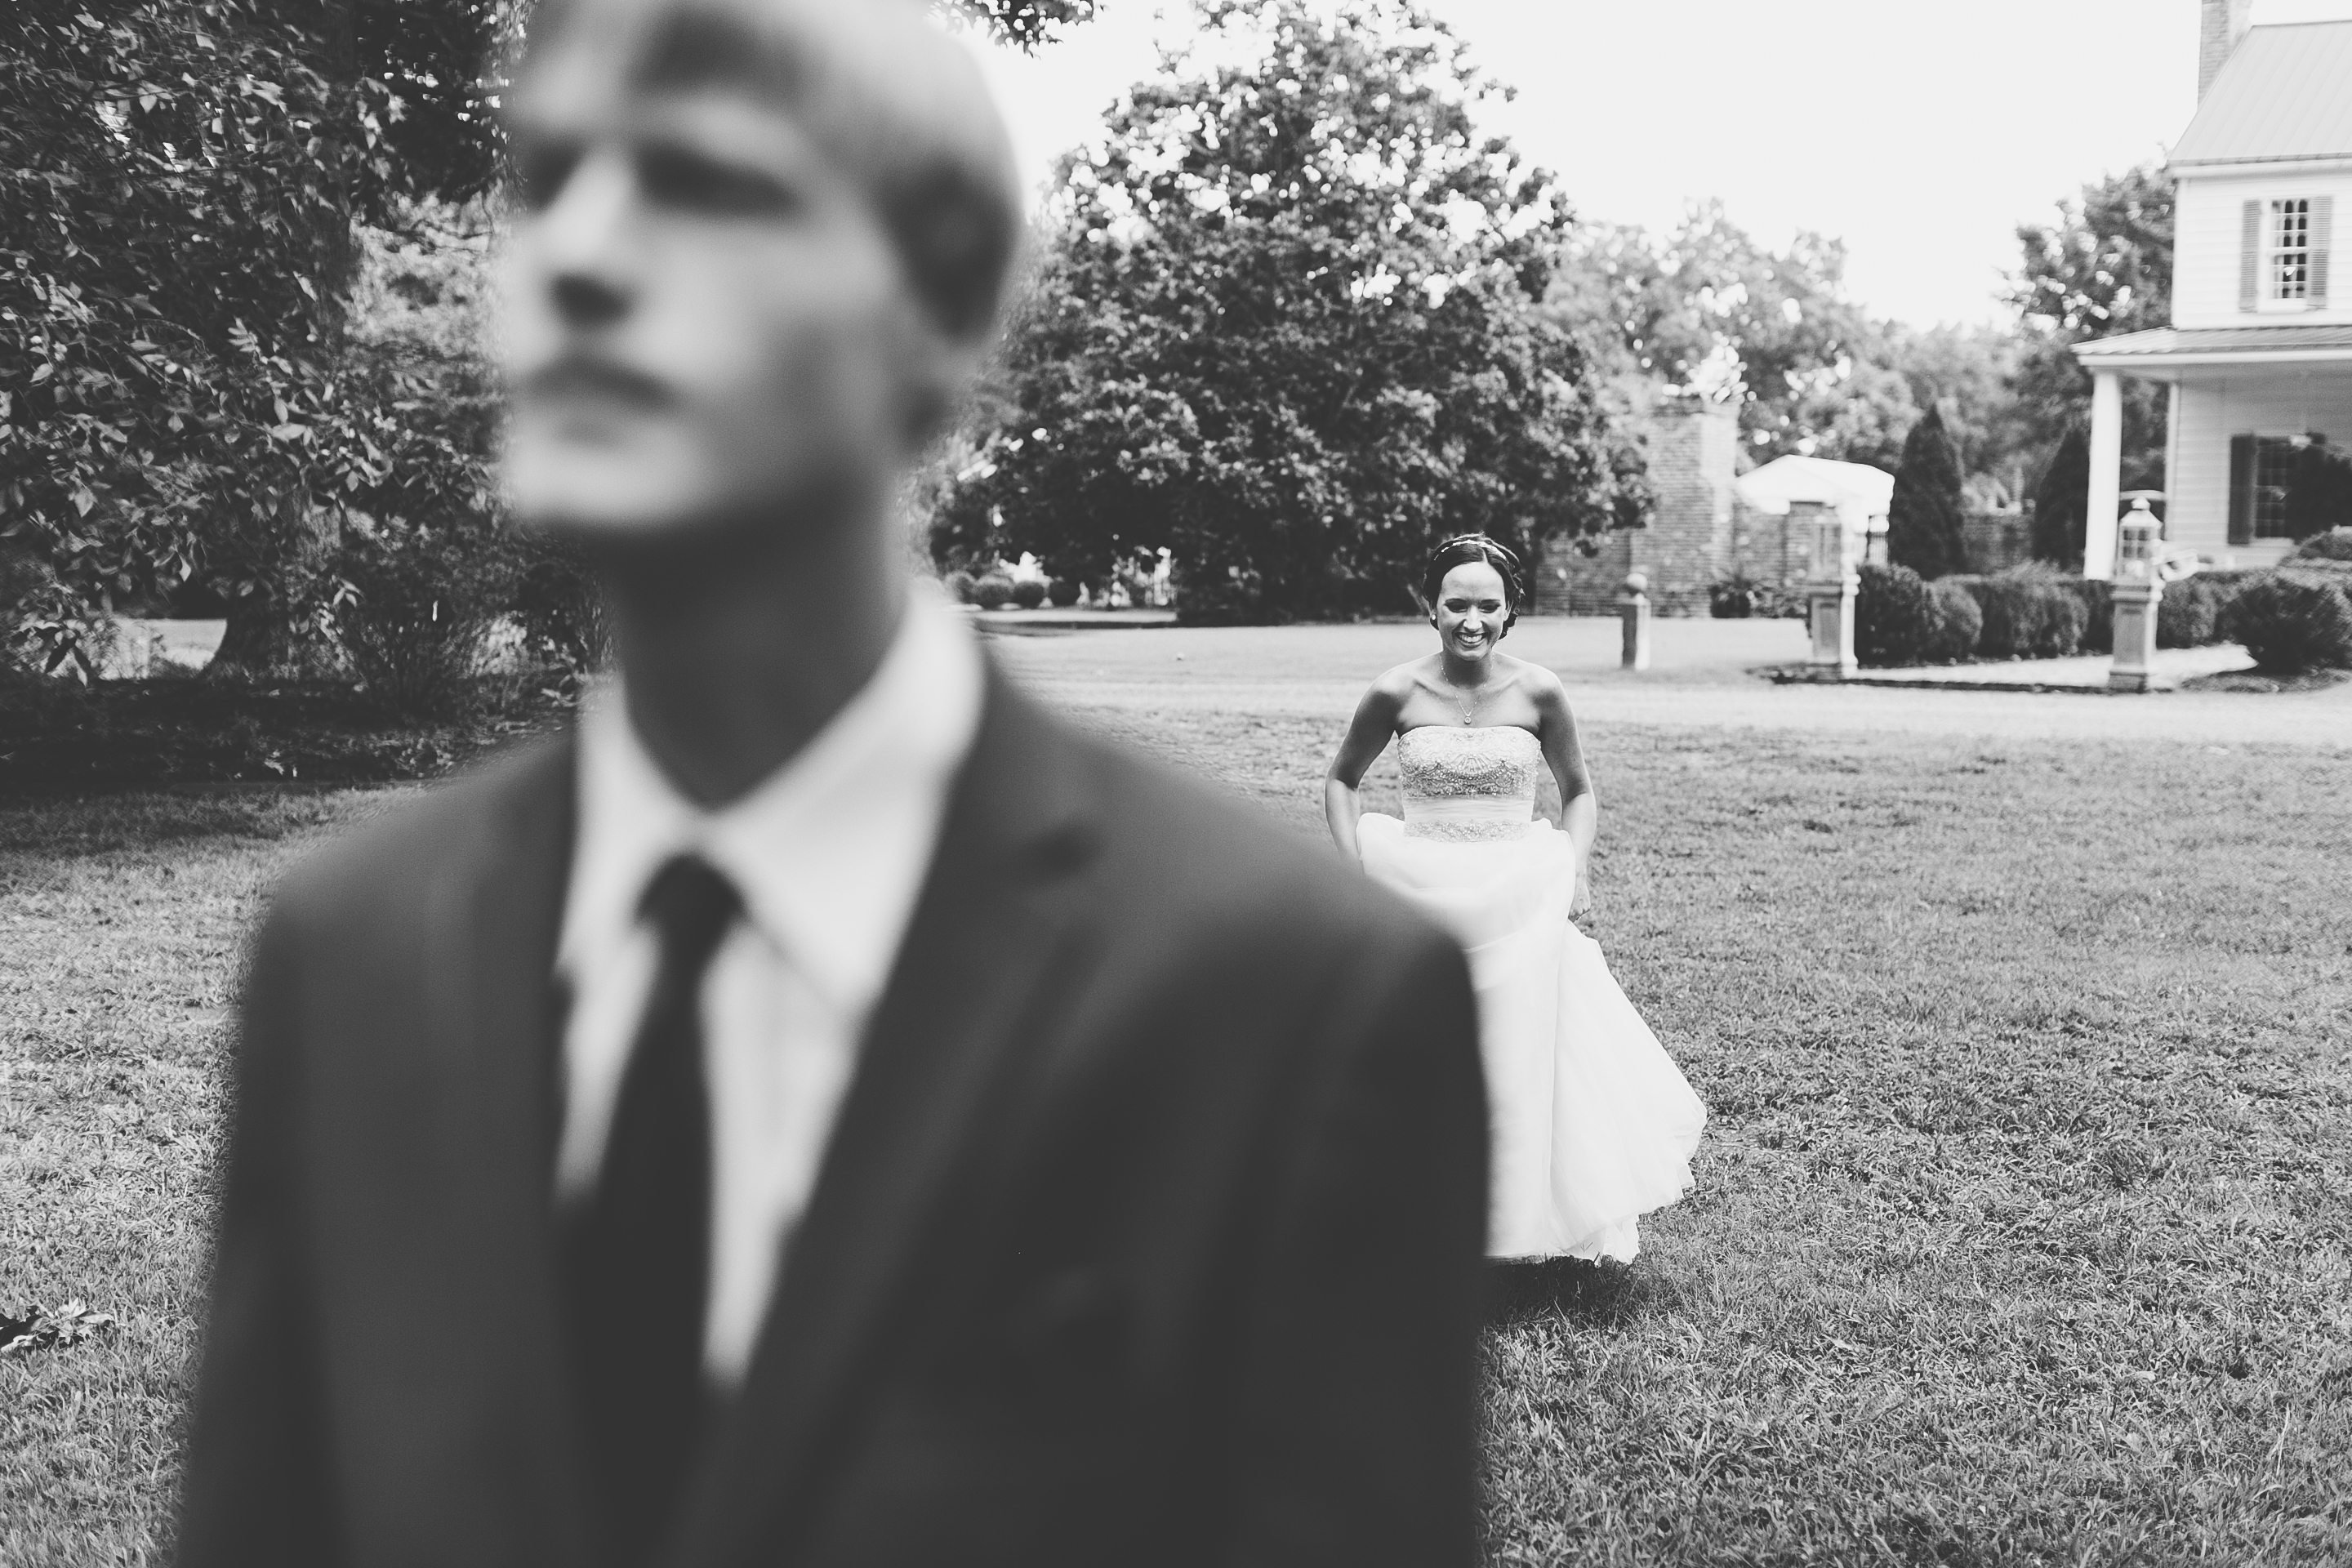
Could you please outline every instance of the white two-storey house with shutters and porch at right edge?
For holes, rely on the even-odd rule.
[[[2173,324],[2074,348],[2093,376],[2089,576],[2114,562],[2122,376],[2171,386],[2164,531],[2225,567],[2288,550],[2300,444],[2352,447],[2352,275],[2331,287],[2352,223],[2352,21],[2249,28],[2246,12],[2204,0],[2197,115],[2169,160]]]

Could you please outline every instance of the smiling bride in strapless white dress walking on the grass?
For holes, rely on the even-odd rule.
[[[1437,651],[1355,708],[1324,816],[1341,851],[1442,919],[1470,952],[1494,1161],[1491,1258],[1621,1258],[1635,1215],[1679,1199],[1705,1107],[1602,950],[1588,903],[1597,802],[1559,677],[1496,649],[1526,602],[1519,557],[1484,534],[1428,559]],[[1364,811],[1364,771],[1397,738],[1404,820]],[[1536,769],[1559,823],[1536,816]]]

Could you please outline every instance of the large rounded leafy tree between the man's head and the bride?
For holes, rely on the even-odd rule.
[[[1442,534],[1637,522],[1639,454],[1541,310],[1569,214],[1472,127],[1463,45],[1406,0],[1202,21],[1058,169],[938,555],[1103,581],[1167,548],[1188,616],[1287,618],[1406,609]]]

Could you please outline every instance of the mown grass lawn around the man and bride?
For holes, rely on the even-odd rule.
[[[1075,712],[1298,832],[1345,719]],[[1588,745],[1588,929],[1715,1121],[1639,1262],[1498,1293],[1491,1563],[2352,1561],[2340,752]],[[0,1307],[125,1321],[0,1361],[0,1563],[162,1554],[238,936],[381,799],[0,806]]]

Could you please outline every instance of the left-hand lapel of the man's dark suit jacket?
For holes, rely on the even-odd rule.
[[[520,762],[482,820],[482,842],[435,898],[428,985],[442,999],[442,1171],[447,1222],[463,1251],[480,1363],[463,1375],[482,1399],[468,1455],[522,1519],[532,1561],[590,1561],[586,1493],[574,1450],[569,1378],[555,1291],[555,940],[572,870],[576,748],[572,736]]]

